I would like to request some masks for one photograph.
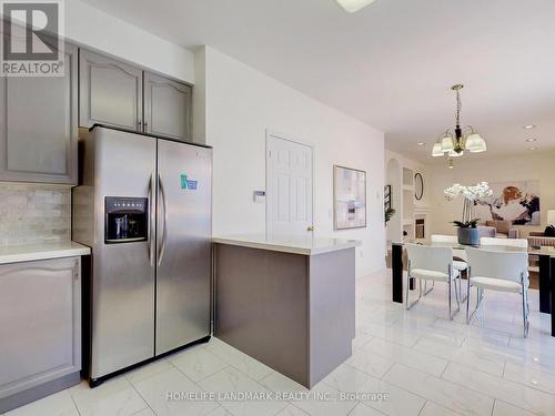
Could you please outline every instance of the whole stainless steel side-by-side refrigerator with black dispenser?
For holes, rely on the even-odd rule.
[[[83,312],[95,385],[210,336],[212,150],[95,125],[80,155],[72,237],[92,248]]]

